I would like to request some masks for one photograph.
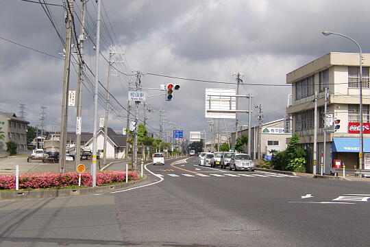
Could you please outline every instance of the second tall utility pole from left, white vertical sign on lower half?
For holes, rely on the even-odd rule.
[[[82,0],[82,20],[80,26],[80,34],[77,42],[79,43],[79,53],[78,56],[78,82],[77,82],[77,109],[76,109],[76,143],[75,143],[75,170],[77,165],[79,165],[81,158],[81,131],[82,131],[82,84],[84,83],[84,40],[85,38],[85,10],[86,10],[86,0]]]

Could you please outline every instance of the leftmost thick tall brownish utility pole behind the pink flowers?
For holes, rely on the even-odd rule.
[[[71,36],[72,36],[72,12],[73,1],[66,1],[66,54],[64,58],[64,74],[62,86],[62,115],[60,117],[60,172],[64,173],[64,163],[66,160],[66,132],[68,125],[68,92],[69,75],[71,65]]]

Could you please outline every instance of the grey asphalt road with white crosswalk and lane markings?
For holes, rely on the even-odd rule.
[[[0,246],[369,246],[369,183],[197,158],[146,168],[144,183],[117,193],[0,201]]]

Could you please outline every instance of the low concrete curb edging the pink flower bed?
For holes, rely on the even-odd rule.
[[[145,175],[143,178],[137,181],[129,183],[122,183],[119,185],[106,185],[101,187],[90,187],[82,189],[45,189],[45,190],[34,190],[34,191],[0,191],[0,200],[17,200],[17,199],[30,199],[30,198],[58,198],[67,196],[85,196],[95,193],[108,193],[123,189],[126,187],[132,187],[138,183],[143,182],[147,179]]]

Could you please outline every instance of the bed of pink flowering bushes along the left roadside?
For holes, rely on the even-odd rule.
[[[19,189],[48,189],[53,187],[68,187],[78,185],[78,172],[45,172],[36,174],[19,175]],[[126,172],[104,171],[97,172],[97,186],[111,183],[123,183],[126,180]],[[138,180],[136,172],[128,173],[128,180]],[[81,175],[82,186],[92,186],[93,177],[89,172]],[[0,175],[0,189],[15,189],[14,175]]]

